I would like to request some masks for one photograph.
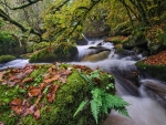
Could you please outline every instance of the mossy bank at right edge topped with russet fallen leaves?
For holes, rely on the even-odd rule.
[[[151,76],[166,82],[166,51],[137,62],[136,66]]]

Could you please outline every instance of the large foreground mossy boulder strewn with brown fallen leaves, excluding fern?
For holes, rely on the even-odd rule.
[[[93,71],[94,72],[94,71]],[[97,71],[95,86],[114,94],[114,80]],[[80,73],[96,75],[86,66],[28,64],[0,72],[0,123],[4,125],[90,125],[91,110],[73,117],[80,103],[90,96],[89,84]]]

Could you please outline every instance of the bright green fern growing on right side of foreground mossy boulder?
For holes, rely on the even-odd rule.
[[[89,106],[85,106],[86,104],[91,104],[91,112],[93,114],[96,124],[98,124],[98,119],[101,118],[101,116],[103,116],[103,114],[108,115],[108,110],[115,110],[122,115],[129,117],[125,108],[125,106],[127,106],[128,103],[123,101],[121,97],[113,95],[113,93],[110,94],[105,92],[102,87],[97,86],[95,80],[101,79],[98,70],[91,72],[90,75],[80,74],[80,76],[82,76],[89,83],[91,97],[89,96],[86,97],[87,100],[82,101],[82,103],[80,104],[79,108],[76,110],[73,116],[75,116],[84,107],[87,108]],[[112,75],[108,75],[108,77],[113,79]],[[106,90],[114,90],[114,85],[112,83],[107,84]],[[100,123],[101,122],[102,119],[100,119]]]

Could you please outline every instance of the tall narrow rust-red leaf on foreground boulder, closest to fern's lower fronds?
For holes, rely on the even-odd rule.
[[[59,86],[60,86],[59,84],[51,85],[50,91],[49,91],[49,93],[46,95],[46,100],[48,100],[49,103],[52,103],[54,101],[55,92],[58,91]]]

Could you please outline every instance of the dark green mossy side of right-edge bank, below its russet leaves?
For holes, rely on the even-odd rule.
[[[148,73],[151,76],[166,82],[166,65],[147,64],[143,61],[136,63],[138,70]]]

